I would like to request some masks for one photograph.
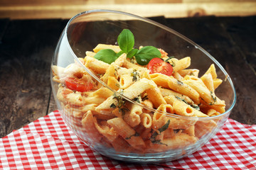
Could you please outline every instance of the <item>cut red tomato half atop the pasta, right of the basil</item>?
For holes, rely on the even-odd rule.
[[[149,64],[147,65],[147,69],[149,69],[149,74],[161,73],[171,76],[173,72],[173,67],[171,64],[169,62],[165,62],[161,58],[153,58],[150,60]]]

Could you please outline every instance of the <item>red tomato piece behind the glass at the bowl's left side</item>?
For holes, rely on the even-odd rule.
[[[85,81],[74,77],[68,77],[67,79],[65,79],[65,85],[68,87],[68,89],[80,92],[90,91],[90,89],[92,89],[93,86],[93,84],[89,81]]]

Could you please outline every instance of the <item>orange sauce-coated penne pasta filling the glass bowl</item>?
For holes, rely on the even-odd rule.
[[[171,76],[150,74],[147,65],[137,64],[126,54],[110,64],[95,59],[102,48],[119,52],[118,46],[100,45],[79,60],[111,89],[146,107],[107,89],[76,62],[65,68],[53,66],[63,115],[91,143],[117,152],[143,154],[182,149],[195,144],[217,125],[213,120],[206,123],[198,118],[225,112],[225,101],[215,96],[221,80],[214,64],[198,77],[198,69],[188,68],[190,57],[172,58],[167,61],[173,66]],[[162,60],[169,58],[164,50],[159,51]]]

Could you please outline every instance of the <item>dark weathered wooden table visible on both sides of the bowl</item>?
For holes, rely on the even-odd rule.
[[[256,16],[152,18],[210,52],[238,95],[230,118],[256,124]],[[56,109],[50,62],[68,20],[0,20],[0,137]]]

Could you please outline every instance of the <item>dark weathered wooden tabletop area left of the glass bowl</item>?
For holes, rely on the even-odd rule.
[[[0,137],[46,115],[61,20],[11,21],[0,45]]]

